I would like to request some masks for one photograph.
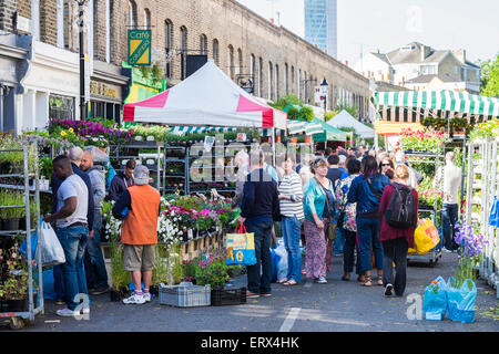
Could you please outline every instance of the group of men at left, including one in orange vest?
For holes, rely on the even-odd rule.
[[[99,162],[95,155],[100,155]],[[100,247],[103,200],[112,200],[113,216],[123,220],[123,269],[131,272],[135,287],[133,294],[123,302],[151,301],[149,287],[155,264],[160,192],[149,185],[149,169],[136,167],[133,159],[106,188],[103,163],[105,159],[102,160],[95,148],[82,150],[80,147],[71,147],[68,155],[52,162],[52,211],[43,221],[53,226],[65,256],[63,264],[53,267],[55,304],[65,304],[57,311],[61,316],[90,313],[90,299],[83,301],[83,296],[109,290]],[[81,302],[83,309],[77,310]]]

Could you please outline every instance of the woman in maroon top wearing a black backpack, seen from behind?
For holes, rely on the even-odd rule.
[[[394,288],[395,294],[403,296],[406,289],[407,250],[414,248],[414,231],[418,221],[418,192],[408,185],[409,177],[409,168],[406,165],[397,165],[395,181],[385,187],[379,205],[381,226],[379,240],[383,243],[383,284],[386,296],[391,295]],[[406,211],[403,214],[405,217],[396,218],[397,223],[395,223],[393,216],[400,215],[399,210]]]

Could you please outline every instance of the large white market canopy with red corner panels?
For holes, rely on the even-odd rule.
[[[211,60],[174,87],[123,110],[124,122],[171,126],[286,129],[286,117],[237,86]]]

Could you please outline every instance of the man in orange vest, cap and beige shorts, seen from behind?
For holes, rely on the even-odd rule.
[[[113,216],[123,219],[122,211],[125,208],[129,210],[123,219],[121,242],[124,244],[123,269],[132,272],[135,291],[130,298],[124,299],[123,303],[142,304],[151,301],[149,288],[154,269],[161,196],[157,189],[149,185],[147,167],[138,166],[133,175],[134,185],[120,196],[113,207]]]

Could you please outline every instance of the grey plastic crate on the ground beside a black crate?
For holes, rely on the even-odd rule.
[[[197,287],[192,282],[160,284],[160,304],[176,308],[210,306],[211,287]]]

